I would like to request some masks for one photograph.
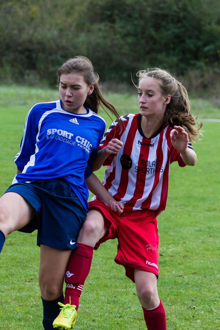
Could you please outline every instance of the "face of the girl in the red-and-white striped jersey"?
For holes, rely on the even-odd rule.
[[[162,120],[171,96],[162,95],[160,79],[143,77],[138,86],[138,104],[141,115],[147,118]]]

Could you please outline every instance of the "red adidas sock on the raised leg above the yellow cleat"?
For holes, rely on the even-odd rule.
[[[71,305],[76,305],[76,310],[79,307],[83,284],[91,268],[93,249],[89,245],[78,243],[78,248],[72,251],[67,266],[64,304],[69,304],[71,300]]]

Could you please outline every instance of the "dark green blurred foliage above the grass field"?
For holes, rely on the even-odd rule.
[[[67,58],[84,55],[103,82],[159,66],[204,91],[219,85],[219,35],[215,0],[1,0],[0,79],[54,84]]]

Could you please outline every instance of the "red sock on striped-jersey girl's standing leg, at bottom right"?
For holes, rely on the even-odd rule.
[[[147,330],[166,330],[166,314],[162,302],[152,310],[143,308],[143,316],[146,322]]]

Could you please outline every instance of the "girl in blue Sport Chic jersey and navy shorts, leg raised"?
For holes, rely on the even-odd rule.
[[[64,299],[66,266],[88,208],[86,183],[107,204],[114,200],[92,174],[91,164],[106,127],[98,108],[116,116],[117,111],[103,98],[86,57],[68,60],[57,77],[61,99],[29,111],[15,157],[17,174],[0,198],[0,251],[13,231],[38,229],[45,330],[53,329],[57,302]]]

